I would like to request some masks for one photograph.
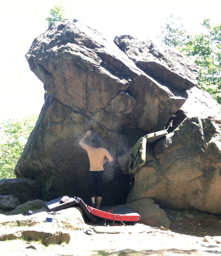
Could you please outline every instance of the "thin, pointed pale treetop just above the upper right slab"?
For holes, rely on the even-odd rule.
[[[174,17],[173,14],[167,18],[167,23],[164,26],[161,26],[163,30],[162,35],[158,37],[160,41],[171,47],[183,45],[186,31],[183,28],[183,25],[179,24],[180,20],[180,17]]]

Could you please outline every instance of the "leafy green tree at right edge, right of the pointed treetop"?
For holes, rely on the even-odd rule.
[[[206,31],[188,35],[181,50],[199,66],[199,86],[221,104],[221,23],[212,27],[209,19],[205,19],[201,25]]]

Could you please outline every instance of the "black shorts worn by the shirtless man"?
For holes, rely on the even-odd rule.
[[[100,196],[104,190],[104,171],[90,171],[88,175],[88,189],[90,198]]]

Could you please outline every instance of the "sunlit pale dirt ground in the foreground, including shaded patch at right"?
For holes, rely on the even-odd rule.
[[[94,225],[71,230],[68,244],[41,241],[0,241],[0,254],[7,256],[213,256],[221,255],[221,216],[198,211],[165,210],[170,228],[160,229],[139,223]],[[91,235],[86,234],[90,230]],[[67,230],[66,230],[67,231]],[[95,232],[96,231],[96,232]],[[204,238],[208,241],[205,241]]]

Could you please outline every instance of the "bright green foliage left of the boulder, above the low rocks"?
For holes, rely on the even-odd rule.
[[[37,114],[0,123],[0,179],[13,178],[15,165],[23,152]]]

